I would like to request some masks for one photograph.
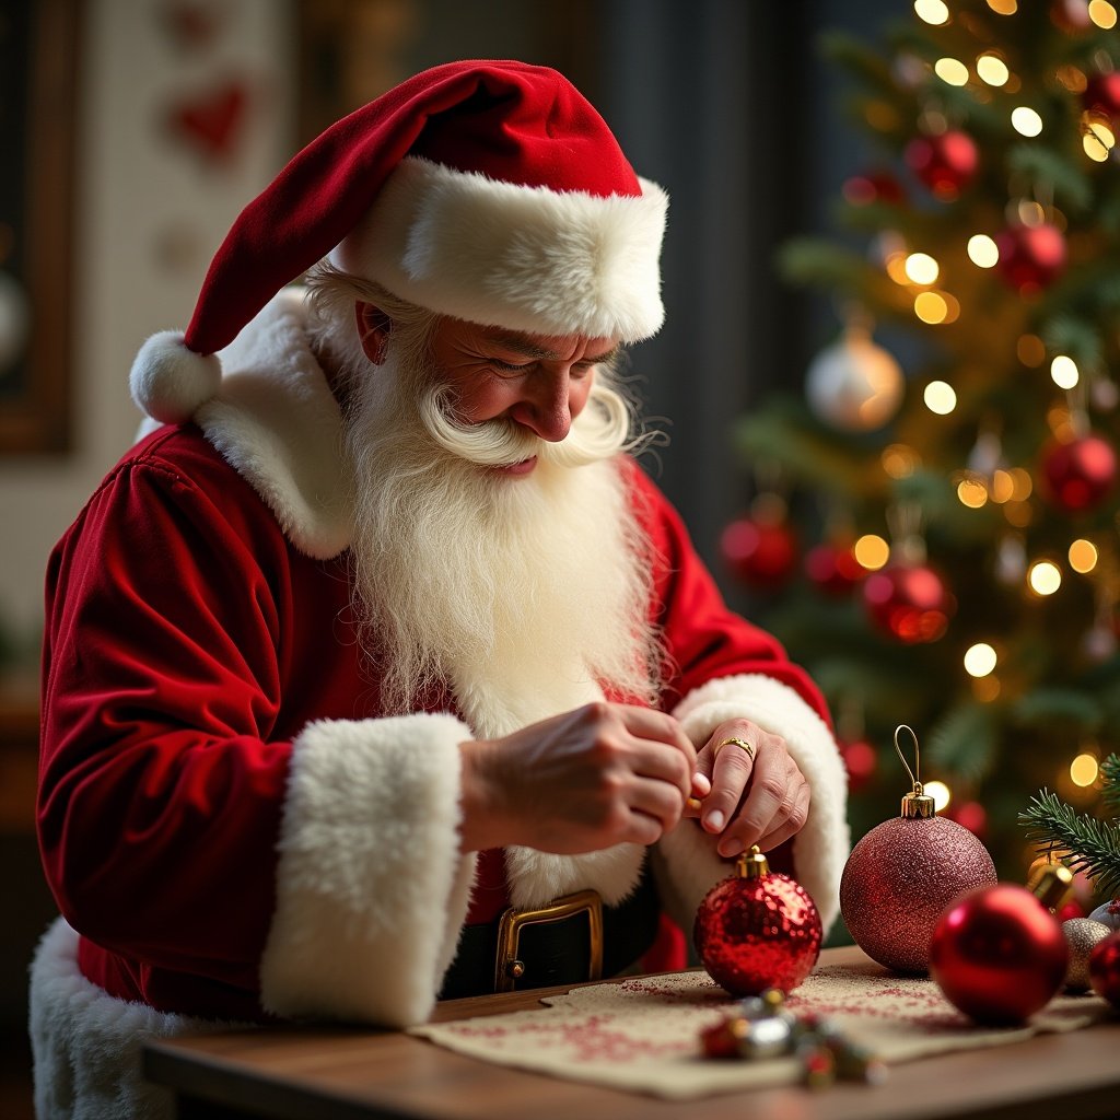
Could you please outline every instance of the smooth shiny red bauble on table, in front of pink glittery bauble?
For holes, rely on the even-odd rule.
[[[930,974],[977,1023],[1023,1023],[1065,981],[1062,926],[1026,888],[979,887],[958,898],[930,939]]]

